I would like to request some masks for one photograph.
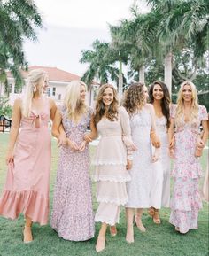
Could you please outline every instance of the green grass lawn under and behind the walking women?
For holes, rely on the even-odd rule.
[[[4,185],[6,175],[5,152],[8,143],[8,134],[0,134],[0,190]],[[94,151],[91,147],[91,152]],[[207,150],[201,159],[205,170]],[[56,141],[52,140],[52,168],[50,175],[50,209],[53,196],[53,184],[56,177],[58,162],[58,148]],[[203,179],[200,181],[202,186]],[[95,198],[95,184],[93,183],[94,210],[97,209]],[[145,233],[135,227],[135,243],[127,244],[125,241],[126,222],[125,213],[122,209],[120,214],[120,225],[118,225],[118,236],[107,236],[107,243],[104,252],[99,255],[106,256],[205,256],[208,254],[208,204],[204,203],[203,209],[199,212],[199,229],[190,230],[186,235],[174,231],[174,227],[168,223],[169,209],[160,211],[161,225],[153,224],[150,216],[143,214],[143,224],[147,228]],[[50,225],[40,227],[33,226],[35,240],[31,244],[23,244],[21,232],[23,229],[23,216],[17,221],[9,221],[0,217],[0,256],[93,256],[95,252],[96,238],[87,242],[70,242],[58,237],[57,233],[50,228]],[[99,224],[96,224],[96,237]]]

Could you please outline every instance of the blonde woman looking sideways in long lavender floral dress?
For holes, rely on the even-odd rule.
[[[61,146],[58,159],[51,227],[59,237],[71,241],[94,237],[89,144],[84,140],[89,125],[92,130],[94,127],[91,121],[93,112],[85,104],[85,97],[85,83],[71,81],[66,88],[64,104],[57,110],[52,126],[52,134],[58,138],[62,123],[67,144]]]

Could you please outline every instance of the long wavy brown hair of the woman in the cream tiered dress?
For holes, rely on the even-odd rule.
[[[104,90],[107,88],[111,88],[113,91],[113,101],[112,101],[112,104],[109,105],[107,109],[106,118],[111,121],[118,120],[119,101],[117,98],[117,91],[116,89],[114,89],[114,87],[111,84],[105,83],[100,87],[97,94],[96,109],[95,109],[95,115],[94,115],[94,122],[96,125],[104,116],[105,105],[103,102],[103,95],[104,95]]]

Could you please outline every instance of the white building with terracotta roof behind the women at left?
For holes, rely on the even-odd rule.
[[[30,70],[36,69],[36,68],[41,68],[44,71],[47,72],[49,76],[49,87],[47,90],[47,95],[48,97],[52,98],[55,100],[57,105],[62,104],[63,99],[65,97],[65,92],[66,92],[66,86],[70,81],[74,80],[81,80],[81,77],[76,75],[76,74],[71,74],[69,72],[66,72],[64,70],[58,69],[57,67],[49,67],[49,66],[29,66],[28,71],[22,71],[22,77],[26,81],[27,79],[27,74]],[[12,77],[12,74],[8,72],[7,74],[7,79],[8,79],[8,84],[9,88],[11,90],[10,95],[9,95],[9,103],[13,105],[14,100],[21,96],[24,95],[25,91],[25,86],[22,87],[21,92],[18,92],[15,90],[14,87],[14,79]],[[90,87],[91,89],[87,92],[87,104],[88,105],[94,105],[94,91],[97,89],[99,86],[98,83],[94,82],[92,86]],[[4,96],[4,85],[0,83],[0,96]]]

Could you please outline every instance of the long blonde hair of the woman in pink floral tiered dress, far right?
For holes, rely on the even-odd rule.
[[[176,113],[175,113],[175,122],[176,124],[181,122],[182,115],[184,114],[184,108],[183,108],[183,87],[185,85],[190,85],[191,93],[192,93],[192,99],[191,99],[191,112],[190,112],[190,120],[189,122],[193,120],[198,119],[198,97],[197,97],[197,89],[193,82],[191,81],[183,81],[181,84],[181,87],[178,92],[178,98],[177,98],[177,107],[176,107]]]

